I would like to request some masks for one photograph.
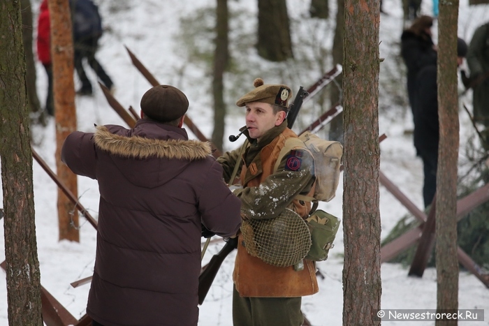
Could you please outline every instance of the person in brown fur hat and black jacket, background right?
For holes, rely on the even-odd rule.
[[[437,64],[437,50],[431,38],[433,18],[423,15],[416,19],[401,35],[401,56],[407,67],[407,95],[413,110],[414,83],[424,66]]]

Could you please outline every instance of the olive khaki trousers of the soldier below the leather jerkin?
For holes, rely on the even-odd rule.
[[[233,286],[233,326],[300,326],[302,297],[240,297]]]

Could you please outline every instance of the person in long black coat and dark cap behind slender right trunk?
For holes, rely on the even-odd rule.
[[[457,41],[458,66],[467,54],[467,44]],[[437,64],[419,71],[414,88],[414,147],[423,160],[423,201],[431,205],[437,190],[437,165],[439,143]]]

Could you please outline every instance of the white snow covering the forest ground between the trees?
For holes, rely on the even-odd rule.
[[[37,13],[39,1],[33,2],[34,12]],[[181,0],[181,1],[128,1],[106,0],[99,3],[104,17],[104,25],[108,28],[101,40],[98,59],[109,75],[115,81],[117,100],[126,108],[132,105],[139,110],[140,97],[149,89],[149,83],[131,64],[124,45],[129,47],[138,58],[149,68],[155,77],[166,84],[174,84],[185,91],[190,101],[189,117],[198,125],[208,138],[212,133],[212,110],[210,97],[210,79],[203,65],[187,62],[185,47],[177,42],[177,33],[182,30],[179,23],[181,17],[187,17],[196,8],[214,6],[211,0]],[[245,22],[254,22],[256,17],[256,1],[228,1],[233,12],[249,13]],[[330,2],[331,13],[335,13],[335,1]],[[287,1],[289,14],[295,20],[307,17],[309,1]],[[292,10],[292,8],[294,8]],[[405,131],[412,129],[412,119],[409,110],[393,103],[388,92],[395,84],[397,88],[404,87],[402,71],[396,71],[395,62],[399,60],[399,38],[402,32],[402,10],[400,0],[384,0],[384,11],[381,15],[380,54],[385,58],[381,64],[381,96],[379,106],[379,132],[388,138],[381,143],[381,171],[391,179],[418,207],[423,207],[421,188],[423,169],[421,160],[416,158],[412,138]],[[431,1],[423,1],[422,12],[432,13]],[[459,36],[470,40],[474,30],[488,20],[489,6],[468,6],[468,0],[460,0]],[[305,19],[306,20],[306,19]],[[248,26],[248,25],[246,25]],[[312,33],[294,38],[321,37],[325,47],[332,44],[334,19],[326,24],[309,24],[308,27],[326,26],[328,31],[312,31]],[[248,27],[249,28],[249,27]],[[301,27],[304,28],[304,27]],[[435,24],[435,38],[437,35]],[[294,32],[295,30],[293,30]],[[199,40],[195,40],[198,43]],[[207,46],[209,47],[209,45]],[[250,50],[252,51],[252,49]],[[38,94],[44,103],[46,80],[43,67],[38,65]],[[87,71],[94,81],[92,71]],[[314,74],[311,74],[314,75]],[[321,73],[316,73],[319,77]],[[385,76],[397,76],[398,80],[386,81]],[[229,76],[228,76],[229,77]],[[238,76],[239,77],[239,76]],[[264,77],[266,75],[255,76]],[[207,79],[206,79],[207,78]],[[231,78],[231,77],[230,77]],[[251,79],[252,81],[252,79]],[[243,87],[249,89],[251,81],[243,81]],[[295,83],[308,86],[315,82],[314,78],[295,80]],[[394,85],[394,86],[393,86]],[[294,85],[295,87],[295,85]],[[78,128],[82,131],[93,131],[94,124],[122,124],[124,122],[110,108],[101,90],[95,88],[92,97],[77,97]],[[401,91],[400,94],[405,97]],[[461,101],[470,104],[470,94]],[[230,108],[226,118],[226,135],[235,134],[244,124],[244,119],[238,108]],[[310,122],[310,121],[309,121]],[[460,111],[460,142],[473,135],[467,114]],[[50,119],[48,126],[41,128],[33,126],[34,149],[54,169],[54,121]],[[193,138],[193,135],[191,135]],[[240,139],[242,141],[242,139]],[[226,149],[238,147],[239,142],[226,142]],[[463,155],[461,151],[460,155]],[[0,191],[1,193],[1,191]],[[93,272],[95,258],[96,232],[92,225],[80,217],[80,243],[58,241],[57,228],[57,187],[50,177],[34,162],[34,195],[36,204],[36,235],[38,242],[38,257],[41,265],[42,285],[70,311],[75,318],[85,314],[89,284],[72,288],[70,283],[90,276]],[[97,216],[98,186],[96,181],[88,178],[78,178],[78,195],[80,202],[92,216]],[[321,203],[322,209],[336,216],[342,216],[342,182],[337,190],[336,198],[328,203]],[[386,188],[380,188],[380,209],[382,233],[384,238],[399,219],[407,214],[405,209],[389,193]],[[0,226],[3,228],[3,224]],[[204,262],[217,253],[222,242],[211,244],[207,249]],[[0,239],[3,247],[3,238]],[[312,325],[342,325],[342,253],[343,231],[340,230],[335,241],[335,248],[330,251],[326,262],[319,262],[318,267],[324,279],[319,279],[320,291],[316,295],[304,297],[302,309]],[[231,323],[231,293],[234,254],[228,256],[202,306],[200,306],[199,325],[232,325]],[[3,251],[0,260],[5,257]],[[426,269],[423,278],[407,276],[407,269],[398,264],[384,263],[381,267],[383,309],[436,309],[437,283],[436,270]],[[0,273],[1,274],[1,273]],[[489,290],[467,272],[460,272],[459,308],[485,309],[489,314]],[[489,316],[485,322],[464,323],[459,325],[489,325]],[[434,325],[434,322],[384,322],[384,325]],[[0,325],[8,325],[6,283],[0,282]]]

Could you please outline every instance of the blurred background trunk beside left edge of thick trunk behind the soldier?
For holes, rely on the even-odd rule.
[[[343,36],[344,36],[344,0],[337,0],[338,11],[336,14],[335,37],[333,38],[333,64],[343,64]],[[336,77],[336,82],[340,86],[333,84],[330,91],[331,106],[342,104],[343,74]],[[343,142],[343,112],[338,114],[330,122],[329,139]]]

